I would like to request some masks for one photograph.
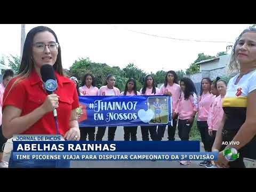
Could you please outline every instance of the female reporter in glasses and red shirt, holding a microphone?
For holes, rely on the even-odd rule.
[[[40,69],[49,64],[58,82],[54,94],[44,90]],[[17,94],[18,93],[18,94]],[[61,49],[54,31],[39,26],[27,34],[19,69],[6,87],[3,97],[3,134],[57,134],[53,110],[57,109],[59,133],[70,141],[78,141],[80,132],[76,119],[79,107],[75,84],[63,76]],[[69,167],[70,162],[13,162],[9,167]]]

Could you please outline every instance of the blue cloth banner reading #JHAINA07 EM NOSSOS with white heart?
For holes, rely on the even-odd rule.
[[[154,96],[79,96],[80,127],[172,125],[172,100]]]

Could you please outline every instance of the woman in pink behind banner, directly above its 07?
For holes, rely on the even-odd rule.
[[[128,79],[124,92],[122,92],[121,95],[140,95],[140,93],[137,91],[137,84],[134,78]],[[138,126],[124,126],[124,140],[130,141],[131,137],[131,141],[137,141],[137,129]]]

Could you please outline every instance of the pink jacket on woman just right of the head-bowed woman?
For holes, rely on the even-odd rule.
[[[209,92],[199,96],[197,121],[207,121],[212,102],[213,94]]]

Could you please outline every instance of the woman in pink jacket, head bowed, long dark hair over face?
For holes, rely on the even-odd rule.
[[[181,141],[188,141],[189,132],[198,108],[196,87],[191,79],[184,77],[180,80],[180,88],[182,93],[173,117],[179,116],[178,131]],[[190,161],[181,161],[180,164],[188,165]]]

